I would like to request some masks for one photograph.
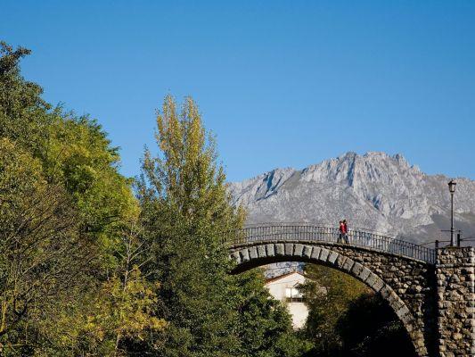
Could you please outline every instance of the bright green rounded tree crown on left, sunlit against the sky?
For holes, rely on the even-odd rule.
[[[44,167],[52,182],[61,183],[72,198],[81,227],[99,250],[97,273],[113,270],[114,247],[121,231],[138,216],[130,179],[119,174],[118,149],[102,127],[87,117],[64,114],[53,120],[45,147]]]

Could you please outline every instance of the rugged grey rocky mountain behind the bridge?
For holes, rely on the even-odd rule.
[[[448,239],[450,194],[444,175],[428,175],[401,154],[347,153],[303,170],[275,169],[230,184],[248,223],[315,222],[377,231],[414,242]],[[475,181],[455,179],[455,228],[475,236]]]

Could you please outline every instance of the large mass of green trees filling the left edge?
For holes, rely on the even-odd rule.
[[[42,88],[20,76],[29,50],[2,42],[0,54],[2,355],[104,355],[95,337],[78,333],[84,316],[126,328],[107,330],[98,344],[118,351],[120,336],[161,324],[148,313],[156,295],[140,271],[129,266],[135,278],[124,281],[118,248],[138,216],[131,182],[101,126],[52,110]],[[114,309],[97,310],[98,297]]]

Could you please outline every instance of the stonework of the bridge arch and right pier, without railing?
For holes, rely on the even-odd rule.
[[[437,266],[393,253],[327,242],[269,241],[231,248],[234,273],[270,262],[314,262],[381,294],[419,356],[473,356],[474,250],[438,250]],[[437,271],[436,271],[437,270]]]

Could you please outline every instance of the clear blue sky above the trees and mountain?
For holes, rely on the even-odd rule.
[[[228,179],[347,151],[475,179],[475,1],[19,1],[0,38],[139,172],[164,95],[192,95]]]

